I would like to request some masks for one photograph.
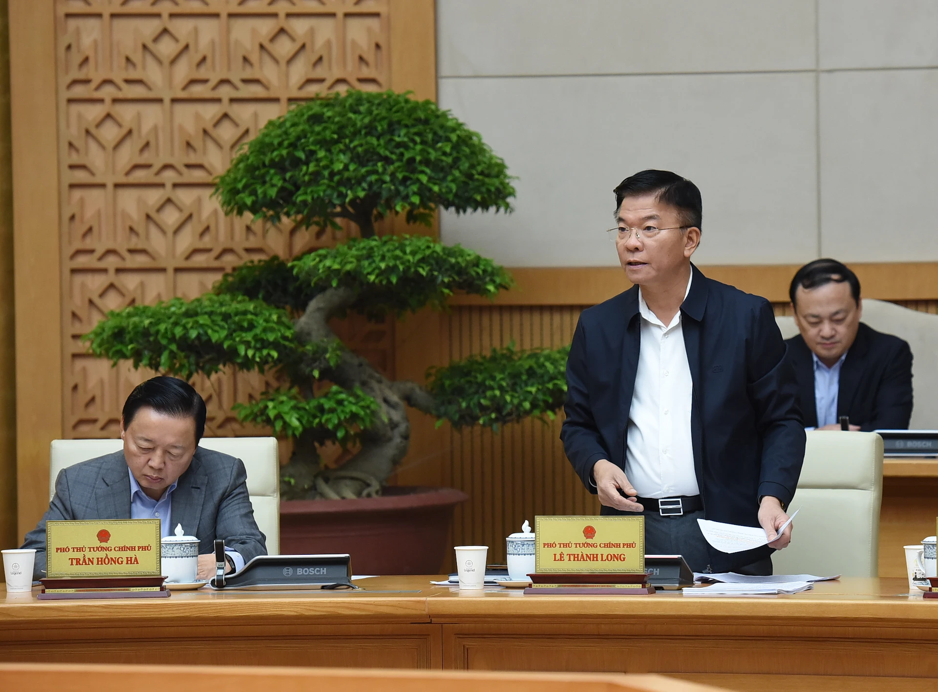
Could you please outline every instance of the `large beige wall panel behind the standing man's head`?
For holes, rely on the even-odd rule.
[[[617,263],[613,188],[664,168],[703,192],[699,263],[795,263],[817,248],[813,73],[442,79],[503,158],[510,216],[444,214],[446,243],[509,266]]]

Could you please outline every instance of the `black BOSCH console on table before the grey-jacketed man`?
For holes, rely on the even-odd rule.
[[[355,589],[352,583],[352,556],[335,555],[258,555],[224,579],[209,581],[214,589],[253,591],[294,591]]]

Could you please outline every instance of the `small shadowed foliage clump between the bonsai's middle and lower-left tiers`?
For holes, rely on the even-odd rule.
[[[215,284],[215,293],[244,295],[276,308],[302,312],[320,290],[296,278],[293,268],[276,255],[234,267]]]

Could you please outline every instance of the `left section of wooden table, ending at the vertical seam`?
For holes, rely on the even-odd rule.
[[[359,593],[201,590],[152,600],[5,594],[0,661],[439,669],[429,580],[374,579]]]

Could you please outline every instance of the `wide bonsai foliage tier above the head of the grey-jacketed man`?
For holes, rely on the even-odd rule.
[[[113,310],[83,336],[90,353],[113,365],[129,360],[189,380],[225,366],[262,370],[296,357],[293,323],[261,301],[208,293]]]

